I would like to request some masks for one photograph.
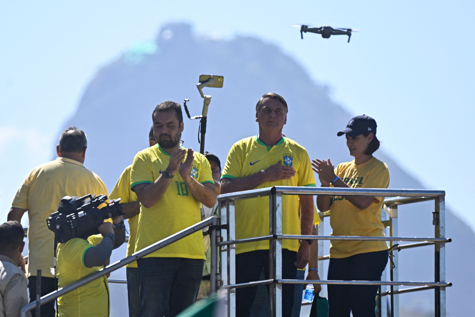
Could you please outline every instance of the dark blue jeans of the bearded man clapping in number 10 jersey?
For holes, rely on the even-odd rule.
[[[174,317],[193,305],[203,276],[202,259],[142,258],[140,317]]]

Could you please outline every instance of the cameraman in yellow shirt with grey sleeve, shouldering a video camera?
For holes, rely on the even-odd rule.
[[[122,216],[113,217],[112,221],[114,224],[104,222],[99,226],[100,234],[58,244],[60,288],[102,269],[112,250],[122,245],[125,241]],[[110,302],[106,276],[59,297],[58,312],[60,317],[108,317]]]

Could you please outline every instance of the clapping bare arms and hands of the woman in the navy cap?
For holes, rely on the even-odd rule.
[[[313,160],[312,165],[314,166],[312,169],[314,170],[315,173],[318,174],[318,177],[321,179],[324,179],[326,183],[330,185],[330,182],[333,181],[333,179],[336,177],[335,171],[334,171],[334,166],[332,165],[332,162],[330,162],[330,159],[328,161],[320,161],[320,160]],[[322,184],[323,185],[323,184]],[[338,179],[333,183],[334,187],[340,187],[340,188],[352,188],[350,185],[347,183],[343,182],[342,179]],[[326,186],[328,187],[328,186]],[[330,202],[330,196],[328,197],[328,202]],[[354,206],[356,206],[360,210],[364,210],[368,207],[370,207],[371,203],[374,201],[378,201],[377,198],[371,197],[371,196],[345,196],[345,199],[349,202],[351,202]],[[322,203],[322,199],[320,200]],[[318,197],[317,197],[317,206],[318,206]],[[326,205],[322,205],[322,207],[326,207]],[[329,207],[329,206],[328,206]],[[321,211],[327,211],[330,210],[328,209],[320,209]]]

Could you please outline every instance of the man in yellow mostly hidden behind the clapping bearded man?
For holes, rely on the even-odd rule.
[[[149,133],[149,145],[157,144],[153,135],[153,126]],[[135,250],[135,237],[137,236],[137,227],[139,224],[140,202],[135,192],[130,190],[130,170],[132,164],[127,166],[122,172],[119,180],[109,196],[109,199],[120,198],[124,219],[129,222],[129,242],[127,243],[126,257],[131,256]],[[137,269],[137,262],[125,266],[127,276],[127,297],[129,299],[129,317],[140,316],[140,280]]]

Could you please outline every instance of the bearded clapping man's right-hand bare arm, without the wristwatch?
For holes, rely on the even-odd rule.
[[[206,207],[212,208],[216,203],[218,194],[214,188],[214,183],[198,183],[193,177],[190,176],[191,168],[193,167],[193,150],[188,149],[188,154],[184,163],[180,165],[178,172],[181,178],[185,181],[186,185],[190,189],[191,194]]]

